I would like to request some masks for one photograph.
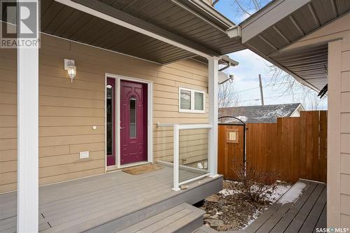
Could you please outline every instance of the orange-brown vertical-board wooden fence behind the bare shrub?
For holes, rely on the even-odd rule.
[[[249,123],[246,128],[247,169],[261,174],[274,172],[282,181],[293,183],[299,178],[326,182],[327,111],[302,111],[298,118],[278,118],[276,123]],[[224,132],[219,126],[219,146],[225,143]],[[224,148],[218,150],[219,172],[225,178],[235,178],[230,173],[238,164],[228,158],[238,156],[237,151],[230,146]]]

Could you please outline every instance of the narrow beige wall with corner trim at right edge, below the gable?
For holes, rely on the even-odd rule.
[[[328,118],[331,131],[328,164],[333,164],[328,166],[328,206],[332,210],[328,213],[328,225],[350,227],[350,27],[341,35],[342,40],[330,42],[328,48],[332,71],[328,97],[329,115],[332,114]]]

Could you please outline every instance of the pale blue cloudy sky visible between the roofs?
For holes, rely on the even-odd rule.
[[[237,0],[241,6],[245,6],[248,13],[255,12],[255,5],[253,0]],[[260,6],[265,6],[269,0],[256,0]],[[228,17],[235,24],[239,24],[246,19],[249,15],[239,10],[239,6],[235,0],[220,0],[215,5],[216,10]],[[262,76],[262,86],[264,92],[265,104],[287,104],[287,103],[299,103],[301,102],[305,108],[311,108],[311,101],[314,99],[314,94],[309,94],[308,98],[304,98],[304,94],[300,90],[301,85],[297,85],[294,90],[294,94],[286,92],[286,87],[271,86],[271,73],[269,72],[268,65],[271,65],[262,57],[255,55],[250,50],[242,50],[239,52],[233,52],[229,54],[232,59],[239,62],[239,66],[231,67],[228,69],[229,73],[233,73],[235,76],[235,92],[239,94],[240,105],[259,105],[260,104],[260,91],[258,74]],[[251,89],[251,90],[248,90]],[[286,92],[286,93],[285,93]],[[327,108],[327,99],[324,98],[319,101],[318,109]]]

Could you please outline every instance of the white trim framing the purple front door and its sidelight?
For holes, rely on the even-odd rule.
[[[116,169],[120,169],[122,167],[130,167],[130,165],[133,164],[120,164],[120,80],[129,80],[132,82],[137,83],[146,83],[148,94],[147,94],[147,118],[148,118],[148,126],[147,126],[147,162],[140,162],[136,164],[143,164],[148,162],[153,162],[153,81],[151,80],[144,80],[141,78],[132,78],[128,76],[120,76],[113,73],[106,73],[105,74],[105,101],[106,101],[106,85],[107,85],[107,78],[114,78],[116,79]],[[106,159],[106,151],[107,151],[107,118],[106,118],[106,104],[104,106],[105,111],[105,159]],[[109,166],[113,167],[113,166]],[[105,162],[105,170],[107,171],[107,160]]]

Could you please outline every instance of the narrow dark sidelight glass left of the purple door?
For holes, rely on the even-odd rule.
[[[113,86],[107,85],[107,155],[113,155]]]

